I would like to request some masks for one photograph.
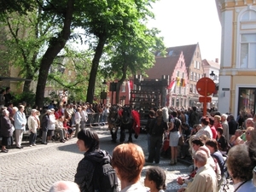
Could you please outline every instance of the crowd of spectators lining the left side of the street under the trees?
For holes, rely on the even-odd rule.
[[[27,106],[26,102],[21,102],[15,107],[13,102],[6,103],[6,95],[5,93],[5,100],[0,109],[2,153],[8,153],[14,143],[15,148],[24,148],[21,143],[27,131],[29,147],[32,147],[37,145],[38,138],[42,144],[56,141],[65,143],[77,137],[81,128],[107,123],[108,105],[51,102],[49,106],[38,109],[37,106],[31,107]]]

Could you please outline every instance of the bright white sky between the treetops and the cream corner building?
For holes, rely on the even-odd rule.
[[[160,0],[153,4],[155,20],[166,47],[199,43],[202,59],[220,58],[221,25],[215,0]]]

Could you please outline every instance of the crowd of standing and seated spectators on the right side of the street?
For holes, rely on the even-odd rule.
[[[232,114],[218,111],[208,111],[203,116],[192,107],[152,109],[149,117],[146,162],[159,164],[162,150],[169,148],[171,166],[177,163],[177,157],[189,156],[192,160],[191,174],[177,178],[182,185],[178,191],[218,191],[224,185],[224,173],[233,179],[236,191],[256,191],[252,182],[256,166],[256,115],[238,116],[235,120]],[[165,143],[169,144],[167,148]],[[247,158],[244,164],[243,158]],[[247,177],[243,176],[246,172]]]

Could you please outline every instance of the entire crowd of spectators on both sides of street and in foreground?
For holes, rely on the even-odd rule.
[[[1,94],[6,96],[7,91]],[[1,96],[0,96],[1,97]],[[50,191],[58,191],[63,186],[78,188],[80,191],[101,191],[96,189],[98,177],[96,161],[108,164],[119,177],[121,192],[125,191],[164,191],[166,174],[157,164],[164,143],[170,148],[170,166],[177,159],[189,156],[193,162],[193,171],[187,177],[177,177],[181,185],[178,191],[218,191],[228,172],[234,182],[235,191],[256,191],[253,185],[253,168],[256,166],[256,115],[253,117],[241,113],[237,119],[232,114],[213,111],[203,116],[196,107],[184,109],[152,108],[146,125],[148,132],[148,158],[143,149],[133,143],[124,143],[113,149],[113,154],[100,149],[96,131],[87,129],[93,122],[107,122],[108,106],[90,103],[67,103],[39,110],[29,108],[26,102],[14,107],[12,102],[1,102],[2,153],[9,152],[9,146],[22,149],[22,137],[28,128],[29,147],[36,146],[38,132],[41,143],[61,143],[78,137],[77,145],[84,153],[79,162],[74,183],[55,183]],[[98,115],[91,119],[90,113]],[[105,115],[106,114],[106,115]],[[104,163],[100,163],[104,162]],[[145,162],[152,164],[147,170],[144,186],[139,182]],[[155,165],[153,164],[155,163]],[[62,187],[60,187],[62,186]],[[109,191],[118,191],[117,183]]]

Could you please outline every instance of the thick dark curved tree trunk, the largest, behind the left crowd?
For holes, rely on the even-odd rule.
[[[38,108],[44,107],[44,89],[48,78],[49,67],[55,59],[55,56],[64,48],[67,39],[70,36],[70,26],[73,17],[73,4],[74,0],[68,0],[67,9],[65,12],[64,26],[62,31],[58,34],[57,38],[51,38],[49,47],[46,50],[39,68],[38,86],[36,91],[36,104]]]

